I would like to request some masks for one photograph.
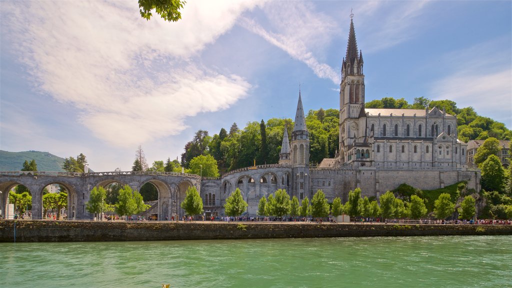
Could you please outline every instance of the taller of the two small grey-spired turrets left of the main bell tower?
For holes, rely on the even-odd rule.
[[[306,118],[302,106],[301,91],[298,92],[295,125],[291,133],[291,162],[293,191],[291,196],[297,196],[299,201],[309,196],[309,132],[306,128]]]

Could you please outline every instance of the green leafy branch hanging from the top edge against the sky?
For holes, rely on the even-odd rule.
[[[151,19],[152,10],[168,22],[181,19],[180,9],[186,1],[181,0],[139,0],[140,16],[146,20]]]

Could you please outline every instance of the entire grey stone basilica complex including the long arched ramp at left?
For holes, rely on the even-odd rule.
[[[286,189],[299,201],[322,189],[328,201],[348,200],[357,187],[362,196],[379,196],[408,183],[423,190],[466,180],[468,188],[480,190],[480,171],[466,166],[466,144],[457,139],[457,118],[440,111],[412,109],[366,109],[362,52],[357,50],[354,24],[343,59],[339,92],[339,152],[319,166],[309,166],[309,134],[299,92],[295,125],[288,138],[285,128],[278,164],[230,171],[220,178],[155,172],[50,173],[0,172],[0,205],[5,216],[8,191],[24,184],[32,192],[32,214],[42,216],[42,189],[58,183],[69,191],[69,218],[92,218],[85,203],[93,187],[113,182],[139,190],[147,182],[158,189],[158,203],[151,208],[159,220],[183,216],[179,204],[185,191],[195,186],[203,199],[206,216],[224,215],[226,198],[237,188],[255,215],[261,197]]]

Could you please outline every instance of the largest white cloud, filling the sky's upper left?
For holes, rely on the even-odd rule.
[[[182,19],[168,23],[142,19],[135,1],[7,2],[3,42],[16,47],[37,89],[79,108],[96,137],[133,147],[247,94],[245,79],[195,59],[254,6],[188,2]]]

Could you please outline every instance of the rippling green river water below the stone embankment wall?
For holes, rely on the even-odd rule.
[[[510,240],[0,243],[0,287],[512,287]]]

